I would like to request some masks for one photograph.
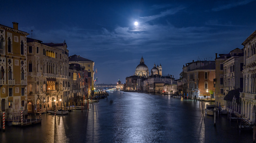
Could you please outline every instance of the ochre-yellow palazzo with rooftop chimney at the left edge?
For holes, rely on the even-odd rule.
[[[27,36],[0,24],[0,113],[18,112],[27,108]]]

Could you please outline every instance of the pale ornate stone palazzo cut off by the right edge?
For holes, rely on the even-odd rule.
[[[240,93],[242,98],[241,116],[256,122],[256,31],[254,31],[243,43],[244,46],[244,67],[243,92]]]

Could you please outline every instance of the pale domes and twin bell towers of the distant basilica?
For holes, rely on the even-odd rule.
[[[141,57],[139,65],[136,67],[135,70],[135,75],[137,76],[143,76],[143,77],[148,77],[149,76],[149,71],[147,65],[144,64],[144,59]],[[154,64],[154,67],[151,69],[151,75],[160,75],[162,76],[162,66]]]

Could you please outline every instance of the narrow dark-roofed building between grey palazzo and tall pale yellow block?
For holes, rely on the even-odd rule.
[[[84,99],[84,67],[80,64],[69,64],[69,76],[71,84],[71,94],[69,101],[78,105]]]

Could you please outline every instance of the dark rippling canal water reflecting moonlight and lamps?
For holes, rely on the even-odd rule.
[[[113,100],[113,102],[110,102]],[[199,106],[200,104],[200,106]],[[86,104],[87,105],[87,104]],[[89,111],[73,110],[54,118],[42,114],[42,123],[7,126],[1,143],[210,143],[252,142],[252,131],[239,133],[236,121],[226,115],[202,115],[201,102],[159,94],[114,91],[108,100],[89,104]]]

